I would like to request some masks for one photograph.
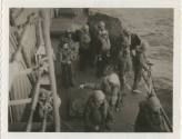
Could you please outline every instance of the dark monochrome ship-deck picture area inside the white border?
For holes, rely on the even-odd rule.
[[[10,8],[9,132],[173,132],[172,8]]]

